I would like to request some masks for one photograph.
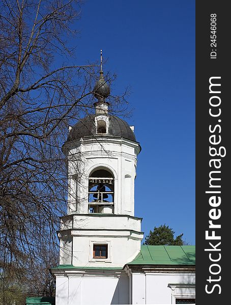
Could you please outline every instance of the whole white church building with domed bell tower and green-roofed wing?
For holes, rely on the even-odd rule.
[[[52,268],[55,304],[192,303],[193,249],[140,246],[134,180],[141,148],[134,128],[108,114],[102,71],[94,92],[95,114],[79,120],[63,146],[68,212],[58,233],[60,265]]]

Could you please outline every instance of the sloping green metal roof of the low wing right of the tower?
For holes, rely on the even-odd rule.
[[[195,246],[141,246],[128,265],[195,265]]]

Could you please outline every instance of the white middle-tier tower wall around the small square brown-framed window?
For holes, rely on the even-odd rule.
[[[69,215],[61,220],[60,264],[123,267],[140,251],[141,219],[131,216]],[[94,244],[108,245],[107,259],[93,258]]]

